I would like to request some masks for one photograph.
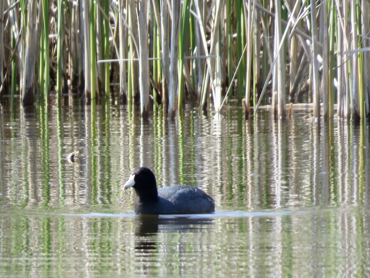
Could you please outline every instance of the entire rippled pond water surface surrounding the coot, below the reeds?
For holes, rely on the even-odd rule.
[[[4,106],[0,276],[370,276],[369,126],[193,106],[174,121]],[[135,215],[121,186],[140,165],[158,186],[203,189],[216,212]]]

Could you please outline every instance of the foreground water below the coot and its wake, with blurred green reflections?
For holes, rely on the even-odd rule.
[[[366,277],[369,211],[0,215],[0,274]]]

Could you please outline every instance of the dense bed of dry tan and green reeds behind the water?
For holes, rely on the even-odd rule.
[[[245,118],[312,103],[370,116],[370,3],[349,0],[0,0],[1,96],[47,105],[140,102],[174,117],[186,98]],[[162,104],[162,105],[161,105]]]

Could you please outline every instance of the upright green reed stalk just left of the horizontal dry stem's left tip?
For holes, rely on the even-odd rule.
[[[96,99],[96,3],[90,0],[90,61],[91,61],[91,100],[95,102]]]

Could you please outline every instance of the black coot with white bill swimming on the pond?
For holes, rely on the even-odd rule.
[[[189,185],[159,188],[154,173],[145,167],[134,169],[123,188],[136,191],[137,214],[203,214],[215,211],[215,201],[201,189]]]

